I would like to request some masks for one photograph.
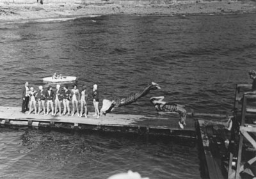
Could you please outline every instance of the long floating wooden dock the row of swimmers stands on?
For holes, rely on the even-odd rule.
[[[74,116],[51,116],[34,113],[23,114],[20,107],[0,107],[1,125],[30,125],[33,127],[49,126],[59,128],[78,128],[95,130],[113,130],[125,132],[143,132],[152,134],[167,134],[173,136],[196,138],[195,120],[188,117],[186,126],[179,128],[179,116],[166,115],[134,115],[134,114],[106,114],[96,118],[88,114],[88,118]]]

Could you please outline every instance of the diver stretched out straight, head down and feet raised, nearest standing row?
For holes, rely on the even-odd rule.
[[[156,82],[151,82],[151,84],[148,84],[148,86],[146,86],[143,91],[141,91],[140,93],[132,93],[131,95],[129,95],[129,97],[117,98],[116,100],[112,101],[104,99],[102,101],[102,108],[100,109],[100,113],[105,115],[106,113],[110,113],[111,111],[113,111],[115,107],[121,107],[136,102],[139,98],[147,95],[151,90],[156,89],[161,88]]]

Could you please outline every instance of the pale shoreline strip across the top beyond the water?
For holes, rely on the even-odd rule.
[[[199,2],[152,5],[0,4],[0,22],[64,21],[100,15],[200,15],[256,13],[256,2]]]

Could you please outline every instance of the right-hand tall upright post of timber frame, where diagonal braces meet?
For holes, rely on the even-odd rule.
[[[246,113],[246,102],[247,102],[247,97],[246,97],[246,95],[243,95],[241,126],[244,126],[245,113]],[[242,149],[243,149],[243,139],[244,139],[243,135],[241,134],[241,132],[239,132],[239,147],[238,147],[238,153],[237,153],[237,164],[236,164],[235,179],[241,178],[240,177],[240,166],[241,166],[241,155],[242,155]]]

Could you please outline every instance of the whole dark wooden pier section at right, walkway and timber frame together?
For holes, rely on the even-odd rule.
[[[198,119],[198,139],[210,179],[256,178],[256,94],[248,93],[251,88],[252,84],[237,84],[230,123]]]

